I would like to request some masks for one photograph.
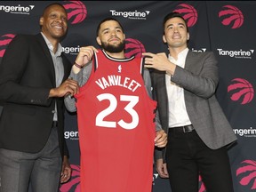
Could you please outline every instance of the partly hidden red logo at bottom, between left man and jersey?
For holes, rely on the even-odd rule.
[[[71,179],[60,186],[60,192],[68,192],[70,189],[80,192],[80,165],[70,164],[70,166],[72,168]]]

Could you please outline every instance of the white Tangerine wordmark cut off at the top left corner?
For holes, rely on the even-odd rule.
[[[11,14],[30,14],[30,11],[33,10],[35,5],[28,5],[28,6],[9,6],[9,5],[0,5],[0,11],[8,12]]]

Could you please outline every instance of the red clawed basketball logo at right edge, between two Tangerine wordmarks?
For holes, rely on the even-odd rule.
[[[241,100],[241,104],[250,103],[254,97],[254,89],[252,84],[243,78],[235,78],[232,80],[234,84],[228,86],[228,92],[231,93],[231,100]]]

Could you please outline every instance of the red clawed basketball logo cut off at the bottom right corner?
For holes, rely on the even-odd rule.
[[[251,189],[256,188],[256,162],[253,160],[244,160],[242,166],[236,170],[236,177],[239,178],[239,183],[243,186],[252,184]]]

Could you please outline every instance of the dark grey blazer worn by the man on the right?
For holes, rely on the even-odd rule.
[[[168,99],[165,72],[152,73],[153,98],[158,103],[157,125],[168,132]],[[216,149],[236,140],[226,116],[215,97],[219,82],[213,52],[188,52],[185,68],[176,67],[172,82],[184,88],[188,116],[197,134],[209,148]],[[157,155],[158,154],[158,155]],[[159,158],[156,151],[156,159]]]

